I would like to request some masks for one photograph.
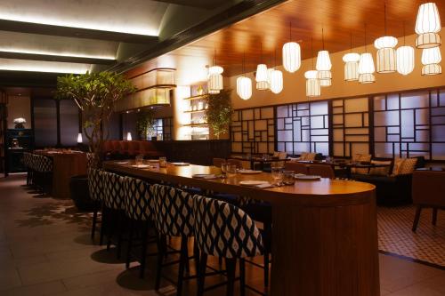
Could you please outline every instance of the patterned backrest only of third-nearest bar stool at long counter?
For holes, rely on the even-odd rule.
[[[138,221],[153,220],[153,198],[150,183],[132,177],[125,177],[125,214]]]

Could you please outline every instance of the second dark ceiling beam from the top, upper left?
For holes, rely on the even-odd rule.
[[[71,57],[52,54],[36,54],[22,52],[0,52],[0,58],[16,59],[16,60],[45,60],[45,61],[61,61],[80,64],[96,64],[96,65],[113,65],[116,60],[94,59],[83,57]]]

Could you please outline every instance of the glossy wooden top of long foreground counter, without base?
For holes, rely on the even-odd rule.
[[[241,180],[265,180],[273,182],[271,173],[240,174],[227,179],[196,179],[194,174],[221,174],[221,169],[214,166],[190,164],[176,166],[169,164],[166,168],[136,168],[132,162],[118,164],[116,161],[104,162],[103,167],[109,171],[120,172],[134,177],[151,180],[166,180],[182,185],[212,189],[218,192],[250,196],[271,203],[312,204],[313,206],[365,204],[374,198],[375,186],[352,180],[295,180],[294,185],[278,188],[252,188],[239,185]]]

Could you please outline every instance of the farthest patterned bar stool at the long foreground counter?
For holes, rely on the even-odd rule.
[[[91,239],[94,239],[94,234],[96,232],[97,215],[101,210],[103,202],[103,180],[102,171],[97,169],[88,169],[88,191],[90,198],[93,200],[93,225],[91,228]],[[103,235],[101,235],[101,240],[99,244],[102,244]]]

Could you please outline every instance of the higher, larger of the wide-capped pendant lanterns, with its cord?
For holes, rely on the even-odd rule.
[[[392,73],[397,70],[394,47],[397,45],[397,38],[386,34],[386,4],[384,4],[384,36],[374,41],[377,49],[377,73]]]

